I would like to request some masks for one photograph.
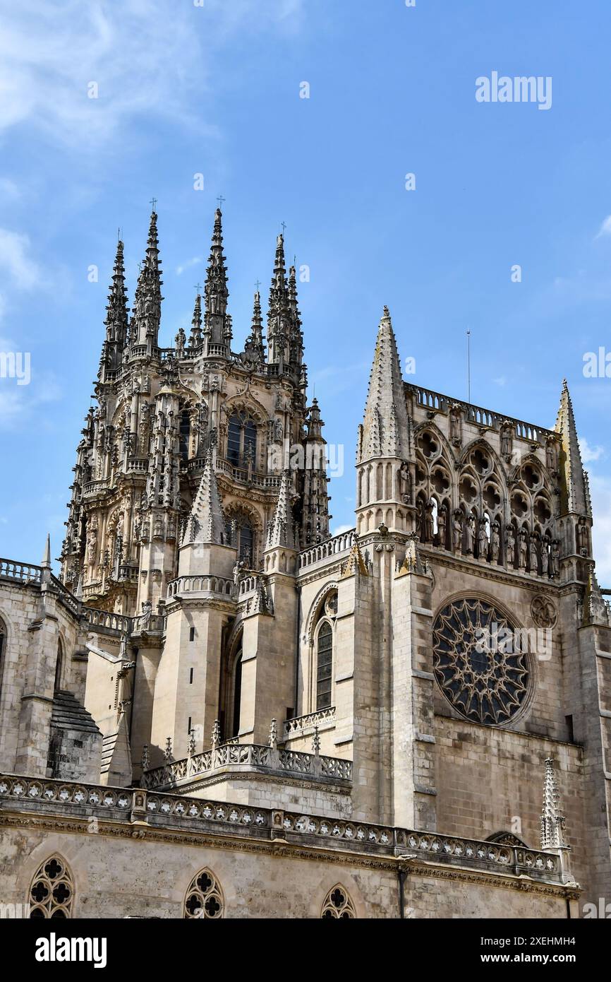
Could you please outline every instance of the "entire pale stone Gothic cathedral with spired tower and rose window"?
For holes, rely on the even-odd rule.
[[[0,560],[3,905],[585,916],[611,622],[566,382],[550,428],[408,384],[383,307],[331,535],[283,237],[241,351],[219,209],[171,348],[162,300],[153,210],[131,308],[117,246],[61,570],[48,540]]]

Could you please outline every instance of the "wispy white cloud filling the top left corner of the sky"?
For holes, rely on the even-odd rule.
[[[212,59],[236,33],[300,23],[302,0],[20,0],[3,4],[0,132],[18,124],[95,149],[134,117],[214,135],[198,118]],[[90,97],[90,83],[97,98]]]

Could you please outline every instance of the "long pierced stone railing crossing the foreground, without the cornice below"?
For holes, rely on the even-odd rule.
[[[269,749],[269,748],[264,748]],[[150,772],[149,772],[150,773]],[[298,814],[250,805],[228,804],[179,794],[78,784],[53,779],[0,775],[2,810],[41,816],[60,815],[86,821],[96,817],[124,822],[126,835],[132,823],[220,836],[236,835],[259,840],[282,839],[289,846],[322,846],[373,853],[404,862],[483,870],[490,874],[520,877],[571,889],[573,877],[562,850],[549,852],[527,846],[501,846],[474,839],[460,839],[434,832],[380,826]]]

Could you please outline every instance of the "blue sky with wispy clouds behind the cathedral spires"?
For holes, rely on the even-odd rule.
[[[566,376],[611,584],[608,0],[1,0],[0,554],[58,555],[121,227],[130,296],[158,198],[162,343],[190,319],[223,194],[234,336],[275,237],[307,264],[310,384],[350,524],[353,453],[382,305],[411,380],[553,426]],[[552,79],[552,105],[479,103],[496,71]],[[87,97],[96,82],[98,97]],[[309,82],[310,98],[299,97]],[[204,175],[194,191],[193,175]],[[405,190],[405,175],[416,190]],[[99,267],[99,281],[87,277]],[[512,283],[520,264],[522,282]]]

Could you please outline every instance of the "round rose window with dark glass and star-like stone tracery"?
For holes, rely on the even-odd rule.
[[[507,723],[529,689],[526,632],[477,598],[447,604],[433,624],[433,669],[444,696],[476,723]]]

